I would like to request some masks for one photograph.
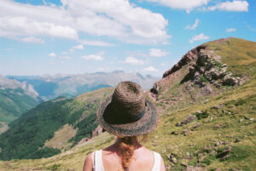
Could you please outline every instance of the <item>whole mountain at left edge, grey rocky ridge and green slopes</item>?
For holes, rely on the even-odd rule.
[[[11,122],[39,102],[31,84],[0,76],[0,122]]]

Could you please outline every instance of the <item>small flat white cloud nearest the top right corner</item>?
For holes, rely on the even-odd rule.
[[[224,3],[218,3],[212,7],[208,7],[207,9],[210,11],[214,10],[222,10],[222,11],[235,11],[235,12],[247,12],[249,3],[247,1],[226,1]]]

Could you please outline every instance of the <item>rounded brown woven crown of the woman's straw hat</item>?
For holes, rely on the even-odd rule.
[[[111,105],[115,117],[124,117],[134,120],[145,108],[145,94],[137,83],[121,82],[113,92]]]

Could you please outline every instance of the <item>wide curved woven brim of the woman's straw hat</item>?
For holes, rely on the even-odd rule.
[[[140,134],[148,134],[156,128],[158,122],[158,116],[155,111],[154,105],[146,100],[145,114],[142,118],[134,123],[125,124],[112,124],[107,123],[104,119],[104,111],[111,102],[112,97],[109,96],[107,100],[103,101],[97,110],[97,119],[102,128],[108,133],[120,135],[120,136],[137,136]]]

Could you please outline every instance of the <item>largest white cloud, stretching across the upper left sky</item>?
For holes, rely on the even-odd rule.
[[[168,21],[127,0],[61,0],[61,6],[1,2],[0,36],[79,39],[79,33],[114,37],[125,43],[163,43]],[[91,42],[90,42],[91,43]],[[101,44],[101,43],[92,43]],[[108,46],[108,43],[102,43]]]

